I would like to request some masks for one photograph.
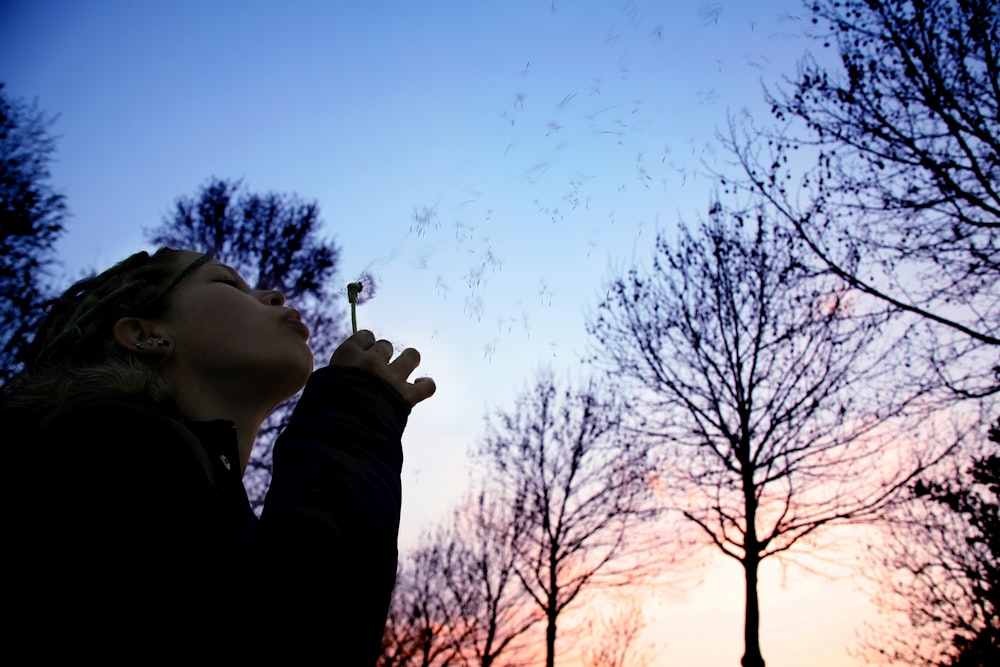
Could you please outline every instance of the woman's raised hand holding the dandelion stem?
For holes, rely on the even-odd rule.
[[[388,382],[410,406],[430,398],[437,385],[429,377],[407,378],[420,365],[420,353],[408,347],[392,359],[392,343],[376,339],[375,334],[361,329],[345,340],[330,357],[331,366],[353,366],[369,370]]]

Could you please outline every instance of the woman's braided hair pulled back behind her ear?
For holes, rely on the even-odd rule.
[[[24,370],[4,387],[0,408],[30,416],[90,391],[172,398],[173,388],[157,373],[157,362],[123,350],[113,329],[122,317],[163,314],[171,290],[201,263],[179,270],[180,252],[137,252],[49,301]]]

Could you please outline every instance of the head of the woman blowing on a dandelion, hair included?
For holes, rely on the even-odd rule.
[[[165,400],[184,391],[184,383],[197,377],[188,371],[213,355],[236,366],[242,354],[253,366],[259,357],[276,363],[275,351],[284,352],[288,366],[287,386],[276,391],[297,384],[294,393],[308,377],[312,356],[308,333],[287,340],[289,332],[270,327],[279,315],[262,306],[283,304],[280,293],[250,289],[210,255],[172,248],[136,253],[50,302],[9,398],[51,405],[83,391],[110,390]],[[294,314],[281,311],[280,317]],[[149,338],[156,342],[148,344]],[[258,349],[248,349],[246,340]]]

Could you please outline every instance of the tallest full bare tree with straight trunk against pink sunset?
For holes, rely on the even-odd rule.
[[[652,268],[614,278],[588,324],[595,360],[631,382],[639,428],[661,443],[671,506],[744,570],[745,667],[764,665],[761,562],[876,516],[934,460],[888,446],[886,420],[910,403],[875,388],[892,368],[870,343],[888,336],[799,245],[762,206],[716,203],[676,242],[659,234]]]

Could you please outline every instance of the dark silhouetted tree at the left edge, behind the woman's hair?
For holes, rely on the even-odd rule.
[[[0,84],[0,386],[22,367],[51,296],[47,271],[67,216],[64,195],[49,183],[54,123]]]

